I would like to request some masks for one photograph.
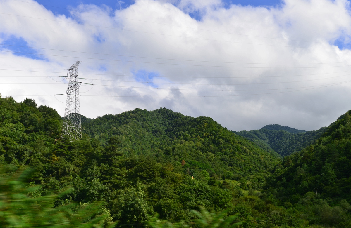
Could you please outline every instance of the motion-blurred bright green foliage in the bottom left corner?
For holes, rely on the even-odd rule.
[[[4,171],[6,166],[0,166]],[[4,172],[2,172],[4,173]],[[112,227],[112,218],[101,203],[70,203],[54,207],[58,195],[30,196],[38,186],[25,186],[29,170],[0,177],[0,227]]]

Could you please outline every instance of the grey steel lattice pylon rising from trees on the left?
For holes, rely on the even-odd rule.
[[[62,127],[62,136],[68,135],[71,141],[82,137],[82,126],[80,121],[80,106],[79,106],[79,86],[78,82],[78,66],[80,61],[77,61],[68,69],[67,77],[69,77],[68,88],[66,91],[66,109],[64,124]]]

